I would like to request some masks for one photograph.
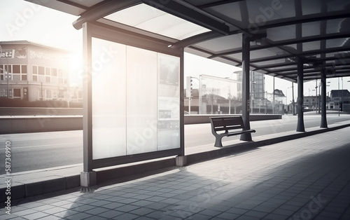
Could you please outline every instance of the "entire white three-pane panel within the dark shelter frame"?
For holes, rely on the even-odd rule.
[[[179,73],[179,57],[92,38],[92,158],[180,148]]]

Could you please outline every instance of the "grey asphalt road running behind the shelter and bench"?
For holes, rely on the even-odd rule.
[[[328,125],[339,121],[349,121],[350,115],[328,114]],[[318,127],[319,115],[305,115],[304,126]],[[283,116],[281,120],[253,121],[251,128],[256,132],[252,137],[296,130],[297,116]],[[230,137],[230,139],[239,139]],[[50,167],[83,163],[83,131],[40,132],[0,135],[0,174],[5,173],[5,147],[10,142],[11,173],[39,170]],[[185,146],[193,147],[214,144],[211,125],[185,125]],[[2,163],[2,164],[1,164]]]

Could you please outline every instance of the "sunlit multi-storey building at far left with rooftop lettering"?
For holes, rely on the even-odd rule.
[[[0,97],[82,101],[81,89],[69,88],[69,51],[29,41],[2,41],[0,53]]]

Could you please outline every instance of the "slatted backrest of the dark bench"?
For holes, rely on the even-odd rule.
[[[211,117],[211,128],[214,132],[242,129],[246,130],[244,127],[243,119],[241,116],[230,116],[230,117]]]

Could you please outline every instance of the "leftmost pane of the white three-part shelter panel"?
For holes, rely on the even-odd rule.
[[[92,158],[94,160],[126,154],[125,54],[124,45],[92,38]]]

